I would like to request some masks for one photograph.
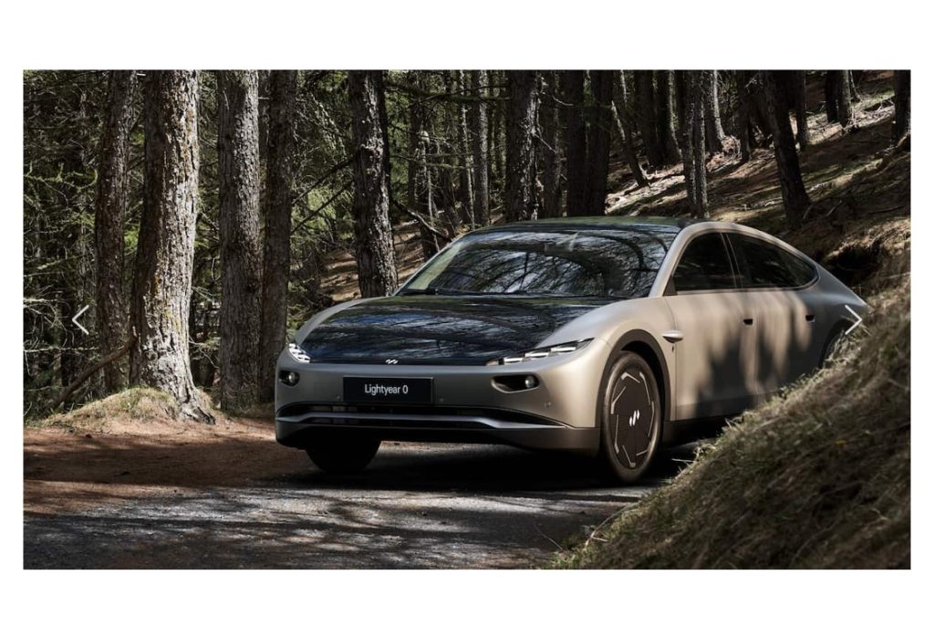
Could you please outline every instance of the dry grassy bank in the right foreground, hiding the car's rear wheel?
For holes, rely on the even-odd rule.
[[[874,300],[870,333],[831,367],[730,425],[553,565],[910,565],[910,302]]]

